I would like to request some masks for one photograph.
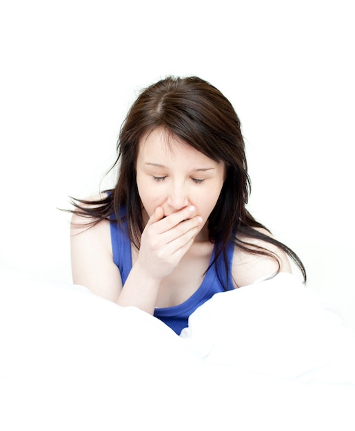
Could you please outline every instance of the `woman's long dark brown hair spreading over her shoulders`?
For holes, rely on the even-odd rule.
[[[256,238],[283,249],[301,269],[305,279],[305,269],[298,256],[285,244],[255,229],[266,228],[256,222],[245,208],[250,194],[250,178],[240,120],[230,101],[216,87],[196,76],[170,76],[141,92],[130,108],[119,134],[118,156],[114,163],[114,167],[119,169],[116,187],[102,200],[74,200],[74,212],[93,217],[96,222],[115,215],[121,223],[120,209],[124,206],[128,235],[139,248],[144,226],[141,199],[136,186],[136,160],[140,138],[158,127],[179,137],[212,160],[225,164],[225,182],[208,219],[208,231],[210,241],[218,246],[216,255],[224,255],[226,271],[226,248],[231,241],[240,249],[270,255],[278,262],[276,255],[267,249],[240,239]],[[280,268],[279,262],[278,266]]]

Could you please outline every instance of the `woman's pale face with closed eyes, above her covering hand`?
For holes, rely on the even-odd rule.
[[[168,216],[194,205],[205,224],[224,180],[223,162],[215,162],[164,129],[154,129],[139,142],[136,182],[148,217],[156,207]]]

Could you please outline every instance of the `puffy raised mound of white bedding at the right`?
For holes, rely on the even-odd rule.
[[[308,383],[351,377],[355,384],[353,331],[290,274],[214,295],[189,326],[181,336],[208,363]]]

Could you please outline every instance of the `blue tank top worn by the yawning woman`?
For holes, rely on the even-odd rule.
[[[123,215],[122,212],[121,216]],[[113,261],[119,268],[124,288],[125,281],[132,269],[131,243],[126,230],[127,222],[124,222],[123,227],[121,227],[116,221],[112,220],[110,222],[110,229]],[[227,260],[230,268],[232,266],[233,251],[234,246],[231,242],[227,248]],[[210,264],[214,260],[215,253],[216,246],[213,248]],[[205,273],[201,286],[199,286],[197,291],[193,293],[189,299],[176,306],[155,308],[154,316],[170,326],[170,328],[179,335],[181,330],[187,327],[188,318],[196,308],[210,299],[215,293],[224,292],[225,286],[228,286],[229,290],[233,288],[232,274],[229,271],[226,277],[223,256],[220,254],[219,257],[217,257],[215,264],[210,266]]]

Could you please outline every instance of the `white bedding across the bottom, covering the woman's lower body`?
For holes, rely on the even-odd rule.
[[[81,286],[0,271],[0,430],[355,430],[355,335],[292,275],[181,337]]]

